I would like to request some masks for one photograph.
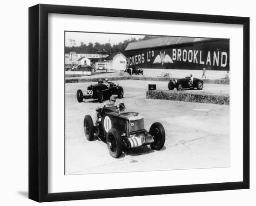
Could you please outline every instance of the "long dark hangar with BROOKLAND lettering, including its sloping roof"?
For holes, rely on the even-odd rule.
[[[131,42],[128,66],[229,71],[229,39],[162,36]]]

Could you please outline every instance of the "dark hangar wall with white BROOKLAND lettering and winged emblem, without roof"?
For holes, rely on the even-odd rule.
[[[217,46],[217,47],[216,47]],[[142,68],[229,70],[228,44],[206,42],[190,47],[156,48],[127,51],[128,66]]]

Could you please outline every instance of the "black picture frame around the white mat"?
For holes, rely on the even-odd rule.
[[[48,193],[48,13],[243,25],[243,181]],[[249,18],[39,4],[29,8],[29,199],[98,199],[249,188]]]

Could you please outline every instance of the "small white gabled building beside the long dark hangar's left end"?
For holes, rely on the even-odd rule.
[[[126,69],[126,56],[121,52],[111,53],[105,60],[107,70],[121,71]]]

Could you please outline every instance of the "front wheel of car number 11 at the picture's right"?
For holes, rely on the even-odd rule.
[[[153,136],[154,143],[151,144],[151,148],[154,150],[162,149],[165,142],[165,131],[161,123],[155,122],[150,126],[149,134]]]

